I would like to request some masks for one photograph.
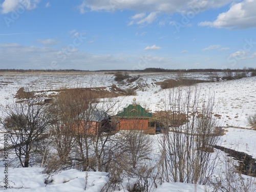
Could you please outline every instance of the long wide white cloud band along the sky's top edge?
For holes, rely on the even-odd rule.
[[[198,13],[210,8],[219,8],[239,0],[83,0],[80,13],[90,11],[134,10],[138,12],[187,12]]]

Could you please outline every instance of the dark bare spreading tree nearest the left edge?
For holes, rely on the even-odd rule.
[[[44,139],[53,123],[51,106],[42,103],[41,97],[12,102],[3,109],[3,124],[10,136],[15,154],[23,167],[33,163],[36,142]]]

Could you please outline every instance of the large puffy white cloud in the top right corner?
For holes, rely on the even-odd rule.
[[[214,22],[201,22],[199,26],[245,29],[256,27],[256,0],[244,0],[233,4],[227,12],[219,14]]]

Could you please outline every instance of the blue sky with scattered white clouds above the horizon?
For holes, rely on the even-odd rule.
[[[256,0],[0,0],[0,69],[256,68]]]

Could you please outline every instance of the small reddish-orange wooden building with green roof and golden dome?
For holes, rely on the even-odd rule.
[[[152,118],[152,113],[147,112],[144,108],[142,108],[141,105],[137,104],[136,99],[134,98],[133,104],[130,104],[129,106],[124,108],[121,113],[118,113],[116,115],[116,117],[119,119],[117,124],[117,130],[147,131],[148,119]]]

